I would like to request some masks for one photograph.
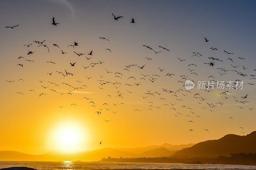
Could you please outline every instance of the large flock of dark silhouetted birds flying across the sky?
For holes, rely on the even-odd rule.
[[[118,19],[121,19],[123,16],[119,16],[119,17],[116,17],[113,13],[112,13],[113,17],[115,20],[118,21]],[[131,23],[134,24],[134,19],[132,18],[131,20]],[[49,23],[50,24],[50,23]],[[61,26],[60,23],[56,23],[55,22],[55,18],[53,17],[52,18],[52,23],[51,23],[53,26]],[[6,26],[6,28],[11,28],[11,29],[18,29],[19,25],[16,25],[16,26]],[[102,41],[111,41],[111,39],[107,39],[105,37],[99,37]],[[202,41],[202,43],[209,43],[209,39],[207,38],[204,38],[205,41]],[[106,111],[109,111],[109,112],[112,112],[113,114],[116,114],[118,113],[117,110],[115,110],[115,106],[116,105],[120,105],[120,106],[123,106],[125,107],[125,103],[122,102],[123,98],[125,98],[124,96],[127,96],[129,94],[133,94],[134,92],[132,91],[132,89],[130,89],[131,87],[137,87],[137,86],[143,86],[145,83],[155,83],[156,81],[158,81],[159,79],[161,78],[176,78],[176,80],[178,80],[177,84],[180,86],[179,89],[166,89],[166,88],[162,88],[162,87],[156,87],[157,90],[147,90],[145,89],[144,92],[141,92],[140,94],[136,94],[137,96],[141,96],[141,100],[143,100],[143,102],[147,103],[148,105],[148,110],[143,110],[143,112],[149,112],[149,111],[152,111],[153,109],[161,109],[161,107],[169,107],[170,109],[170,114],[172,114],[175,117],[177,116],[185,116],[187,117],[188,119],[185,121],[187,123],[195,123],[195,118],[200,118],[202,117],[203,115],[198,115],[197,114],[197,111],[195,108],[193,108],[192,106],[186,106],[184,103],[184,100],[191,100],[191,99],[194,99],[197,101],[198,105],[201,106],[200,108],[205,110],[205,111],[209,111],[209,112],[214,112],[215,111],[215,108],[218,108],[218,107],[221,107],[221,106],[224,106],[225,103],[222,103],[222,102],[217,102],[217,103],[212,103],[211,102],[211,99],[207,97],[205,97],[203,94],[200,94],[199,92],[194,94],[193,91],[189,91],[189,90],[186,90],[185,89],[185,81],[186,80],[190,80],[189,78],[189,75],[195,75],[195,76],[199,76],[199,73],[200,71],[198,70],[199,66],[198,64],[199,63],[186,63],[187,60],[191,57],[199,57],[199,58],[203,58],[204,60],[208,60],[208,62],[202,62],[202,64],[207,64],[209,65],[210,67],[214,67],[214,66],[217,66],[216,70],[217,70],[217,73],[220,74],[221,76],[225,76],[225,74],[227,72],[235,72],[237,73],[237,76],[239,76],[239,78],[237,80],[234,80],[234,82],[236,81],[242,81],[242,78],[245,78],[245,77],[248,77],[248,81],[255,81],[256,78],[256,75],[254,73],[250,73],[248,74],[247,70],[249,70],[248,68],[246,68],[244,65],[236,65],[236,64],[233,64],[233,60],[235,60],[236,58],[234,57],[234,53],[233,52],[227,52],[226,50],[222,50],[223,52],[223,55],[225,55],[225,57],[223,57],[223,59],[219,59],[219,58],[215,58],[215,57],[204,57],[202,54],[200,54],[199,52],[192,52],[191,55],[192,56],[188,56],[187,58],[183,58],[181,59],[181,57],[177,57],[176,60],[178,60],[180,62],[180,64],[183,64],[182,67],[186,68],[187,69],[187,75],[179,75],[179,73],[168,73],[167,70],[168,68],[162,68],[161,66],[159,67],[156,67],[156,74],[153,74],[153,75],[150,75],[150,74],[147,74],[145,72],[142,72],[143,69],[145,67],[147,67],[147,63],[146,64],[127,64],[127,65],[124,65],[123,66],[123,69],[122,70],[118,70],[118,71],[113,71],[111,68],[107,68],[107,65],[106,65],[106,61],[100,61],[98,60],[97,62],[91,62],[93,57],[94,57],[94,50],[90,50],[88,51],[87,53],[80,53],[78,51],[76,51],[76,47],[79,46],[80,44],[78,43],[78,41],[75,41],[73,44],[67,44],[67,49],[63,49],[63,48],[60,48],[58,44],[52,44],[49,46],[49,45],[46,45],[46,40],[44,41],[33,41],[31,43],[29,43],[28,45],[27,44],[24,44],[25,47],[27,48],[30,48],[31,46],[34,48],[36,46],[36,48],[45,48],[45,52],[47,53],[50,53],[50,49],[49,48],[50,46],[52,46],[52,48],[57,48],[60,50],[60,54],[62,55],[67,55],[67,54],[71,54],[71,55],[74,55],[74,56],[78,56],[78,57],[82,57],[84,56],[86,58],[86,60],[88,61],[88,64],[87,65],[78,65],[77,62],[70,62],[70,67],[81,67],[81,69],[87,69],[89,67],[92,67],[92,68],[96,68],[98,65],[104,65],[105,66],[105,72],[102,72],[100,73],[100,77],[98,78],[93,78],[93,77],[85,77],[85,80],[88,80],[89,79],[94,79],[95,83],[97,84],[99,90],[105,90],[108,91],[108,88],[110,88],[110,86],[112,86],[111,88],[114,88],[116,89],[116,92],[114,94],[108,94],[107,97],[108,98],[108,102],[106,103],[103,103],[103,104],[98,104],[98,103],[95,103],[95,101],[92,99],[92,98],[89,98],[87,96],[81,98],[82,99],[85,99],[88,101],[88,104],[91,105],[91,107],[94,107],[95,108],[95,114],[97,115],[100,115],[102,114],[102,111],[106,110]],[[159,53],[169,53],[171,51],[170,48],[168,47],[163,47],[163,46],[158,46],[157,48],[160,49],[153,49],[151,47],[149,47],[148,45],[145,45],[145,44],[141,44],[141,48],[145,48],[145,49],[148,49],[150,51],[152,51],[153,53],[152,54],[159,54]],[[27,49],[28,52],[26,53],[26,56],[30,56],[30,55],[34,55],[34,53],[36,53],[36,50],[29,50]],[[216,47],[209,47],[209,50],[213,50],[213,51],[217,51],[219,49],[217,49]],[[64,52],[65,51],[65,52]],[[111,53],[111,49],[109,48],[106,48],[105,49],[106,52],[109,52]],[[25,54],[24,54],[25,55]],[[23,56],[24,56],[23,55]],[[17,67],[22,67],[24,68],[25,65],[24,65],[24,61],[26,62],[35,62],[35,60],[30,60],[30,59],[26,59],[27,57],[23,57],[23,56],[19,56],[17,57]],[[94,57],[95,58],[95,57]],[[239,63],[242,63],[244,60],[245,60],[245,57],[238,57],[237,58],[238,60],[240,60]],[[97,60],[97,59],[96,59]],[[150,57],[145,57],[145,61],[148,61],[148,62],[152,62],[154,59],[150,58]],[[219,63],[222,63],[222,62],[226,62],[226,63],[229,63],[230,64],[230,67],[229,68],[219,68],[218,65]],[[49,64],[58,64],[56,62],[53,62],[53,61],[47,61],[47,63]],[[69,62],[68,62],[69,63]],[[243,63],[242,63],[243,64]],[[237,70],[238,68],[242,68],[243,72]],[[130,72],[131,70],[136,70],[136,72],[139,73],[139,75],[137,76],[129,76],[129,77],[125,77],[124,76],[124,73],[128,73]],[[252,70],[252,71],[256,71],[255,69]],[[163,74],[160,74],[160,73],[163,73]],[[61,80],[63,81],[61,84],[57,84],[55,82],[50,82],[48,80],[38,80],[40,81],[40,83],[42,84],[41,87],[42,89],[49,89],[49,91],[52,91],[52,92],[55,92],[56,94],[59,94],[59,95],[70,95],[72,96],[72,92],[75,91],[75,90],[82,90],[82,89],[85,89],[85,88],[89,88],[87,87],[87,85],[84,85],[82,84],[83,80],[76,80],[76,83],[79,84],[79,86],[74,86],[74,85],[71,85],[72,83],[69,83],[69,82],[66,82],[65,81],[65,77],[73,77],[74,73],[73,72],[70,72],[68,71],[68,69],[63,69],[63,70],[55,70],[55,71],[51,71],[51,72],[48,72],[47,75],[49,76],[52,76],[53,74],[59,74],[62,76]],[[108,74],[110,75],[111,77],[115,78],[116,81],[109,81],[108,79],[104,79],[104,76]],[[248,75],[247,75],[248,74]],[[217,82],[216,79],[214,78],[215,75],[209,75],[208,77],[208,80],[209,78],[211,79],[211,81],[213,82]],[[75,78],[75,75],[74,75],[74,78]],[[208,81],[207,80],[207,81]],[[15,80],[6,80],[8,83],[12,83],[14,82]],[[24,81],[23,79],[19,79],[17,81]],[[131,81],[133,81],[133,83],[131,83]],[[173,81],[174,82],[174,81]],[[45,83],[45,84],[43,84]],[[195,82],[196,83],[196,82]],[[251,82],[251,83],[247,83],[248,85],[255,85],[255,82]],[[58,92],[56,90],[57,87],[59,86],[65,86],[67,88],[67,92]],[[119,91],[119,88],[123,86],[126,88],[125,91]],[[205,85],[206,89],[204,89],[204,91],[207,91],[207,92],[215,92],[216,89],[209,89],[209,85]],[[216,86],[214,86],[216,87]],[[35,90],[33,89],[27,89],[26,91],[29,91],[29,92],[35,92]],[[203,91],[203,90],[202,90]],[[25,95],[25,92],[16,92],[20,95]],[[216,93],[216,92],[215,92]],[[166,98],[166,97],[163,97],[163,95],[168,95],[169,97]],[[232,89],[224,89],[224,90],[218,90],[218,95],[220,96],[223,96],[223,98],[225,100],[231,100],[232,102],[235,103],[237,109],[247,109],[247,111],[250,111],[252,110],[253,108],[248,108],[246,107],[246,104],[249,103],[249,101],[247,100],[247,98],[250,96],[249,94],[244,94],[244,96],[237,96],[237,95],[233,95],[233,91]],[[44,97],[46,96],[47,97],[47,93],[46,92],[39,92],[38,93],[38,97]],[[154,103],[151,101],[151,100],[147,100],[148,98],[151,97],[154,97],[155,99],[157,98],[157,100],[159,100],[159,102],[162,103],[162,106],[155,106]],[[113,98],[118,98],[120,100],[119,103],[113,103],[113,102],[110,102],[111,99]],[[50,99],[49,99],[50,100]],[[170,100],[172,102],[170,102]],[[176,107],[178,104],[174,101],[176,101],[177,103],[182,103],[184,104],[182,107]],[[76,103],[72,103],[71,106],[76,106]],[[63,106],[59,106],[60,108],[62,108]],[[180,111],[182,109],[182,111]],[[134,112],[141,112],[142,109],[140,108],[133,108],[133,111]],[[192,119],[193,117],[193,119]],[[227,119],[233,119],[233,117],[228,117]],[[106,120],[106,119],[103,119],[103,121],[106,121],[106,122],[110,122],[111,120]],[[193,126],[191,126],[193,127]],[[240,129],[243,130],[243,127],[239,127]],[[188,129],[189,131],[193,131],[194,129],[193,128],[190,128]],[[208,129],[202,129],[204,131],[207,131],[209,132],[210,130]],[[241,133],[244,133],[243,131],[241,131]],[[101,144],[101,142],[100,142]]]

